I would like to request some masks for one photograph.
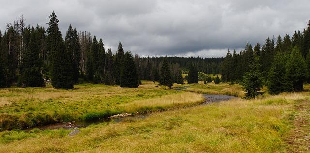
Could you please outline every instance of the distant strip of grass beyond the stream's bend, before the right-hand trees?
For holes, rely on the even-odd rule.
[[[229,83],[220,83],[220,84],[203,84],[199,82],[199,85],[190,86],[185,91],[197,92],[202,94],[225,94],[232,95],[236,97],[243,97],[244,92],[242,86],[239,84],[230,85]]]

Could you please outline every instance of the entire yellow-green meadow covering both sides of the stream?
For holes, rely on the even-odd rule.
[[[309,92],[198,105],[203,98],[195,92],[241,97],[241,86],[203,82],[174,85],[187,86],[185,90],[190,92],[186,92],[167,90],[149,81],[143,84],[138,89],[98,84],[80,84],[74,90],[3,89],[1,116],[18,120],[25,120],[27,113],[32,113],[28,116],[32,122],[33,114],[63,113],[70,120],[123,112],[150,114],[144,119],[112,119],[79,128],[81,133],[73,137],[68,136],[72,130],[66,129],[2,131],[0,152],[307,152],[301,146],[307,145],[309,126],[298,125],[310,124]],[[3,118],[0,121],[3,123]]]

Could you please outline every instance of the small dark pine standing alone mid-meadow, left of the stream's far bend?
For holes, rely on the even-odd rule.
[[[169,87],[171,89],[172,87],[172,78],[171,78],[171,72],[168,65],[168,61],[166,59],[163,60],[163,64],[160,69],[160,79],[159,84]]]

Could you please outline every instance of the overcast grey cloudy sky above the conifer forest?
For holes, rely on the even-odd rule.
[[[24,15],[45,28],[55,11],[69,24],[102,38],[107,50],[141,56],[223,57],[247,41],[292,36],[310,20],[310,0],[1,0],[0,30]]]

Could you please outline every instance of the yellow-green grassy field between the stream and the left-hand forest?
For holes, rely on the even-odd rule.
[[[144,81],[137,89],[102,84],[80,84],[73,90],[0,89],[0,130],[95,120],[118,113],[162,111],[201,102],[203,97],[199,94],[165,90],[151,81]]]

